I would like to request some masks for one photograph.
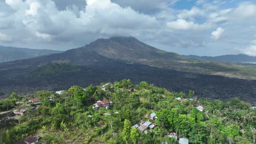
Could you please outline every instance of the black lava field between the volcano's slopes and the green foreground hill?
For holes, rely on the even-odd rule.
[[[175,92],[187,93],[191,89],[199,98],[226,101],[232,97],[240,97],[244,101],[256,104],[256,80],[189,73],[122,62],[107,66],[83,66],[80,67],[80,71],[65,72],[50,77],[24,76],[29,71],[29,69],[16,70],[12,73],[9,70],[0,71],[0,92],[9,95],[15,91],[26,95],[34,91],[60,91],[73,85],[86,87],[90,83],[98,85],[101,82],[114,82],[125,78],[131,79],[134,83],[147,81]]]

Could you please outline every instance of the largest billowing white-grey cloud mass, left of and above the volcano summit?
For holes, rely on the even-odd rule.
[[[52,0],[5,2],[16,11],[8,18],[15,20],[16,31],[25,31],[23,37],[26,40],[41,39],[55,43],[79,41],[85,45],[95,37],[138,36],[159,27],[155,17],[139,13],[131,7],[121,7],[110,0],[86,0],[87,5],[79,16],[72,9],[58,10]]]

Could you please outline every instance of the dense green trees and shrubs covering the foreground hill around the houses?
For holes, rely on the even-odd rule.
[[[130,80],[115,82],[113,87],[108,85],[106,91],[101,86],[91,85],[85,91],[72,86],[61,95],[36,92],[33,97],[40,99],[41,106],[36,113],[28,111],[21,116],[19,124],[6,123],[1,128],[0,143],[12,144],[39,134],[48,144],[176,144],[174,138],[166,136],[167,132],[188,138],[190,144],[255,143],[256,110],[238,98],[228,102],[204,99],[179,102],[175,98],[194,98],[194,93],[168,92],[147,82],[132,85]],[[54,101],[48,96],[53,96]],[[13,93],[0,102],[1,110],[17,109],[19,105],[15,102],[27,99]],[[92,104],[98,100],[113,101],[113,107],[93,110]],[[205,105],[205,111],[197,110],[196,104]],[[25,105],[24,102],[23,108],[33,104]],[[157,115],[157,126],[152,131],[141,134],[136,128],[131,129],[141,120],[155,123],[149,119],[152,112]],[[113,132],[117,135],[113,136]]]

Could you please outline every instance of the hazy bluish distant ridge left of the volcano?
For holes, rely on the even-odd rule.
[[[49,55],[52,53],[61,53],[58,50],[47,49],[27,49],[0,46],[0,62],[15,61],[20,59],[33,58],[42,55]]]

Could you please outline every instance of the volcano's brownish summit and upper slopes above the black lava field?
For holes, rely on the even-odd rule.
[[[1,69],[28,68],[57,63],[71,65],[94,65],[125,61],[127,63],[146,64],[158,68],[175,69],[179,71],[217,74],[228,77],[256,77],[256,67],[228,62],[190,59],[173,52],[156,49],[134,37],[112,37],[98,39],[81,48],[67,50],[63,53],[42,56],[15,62],[0,64]]]

